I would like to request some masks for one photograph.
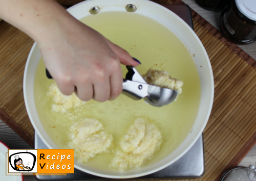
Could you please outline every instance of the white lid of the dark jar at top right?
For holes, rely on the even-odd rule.
[[[236,0],[239,11],[247,18],[256,21],[256,1],[255,0]]]

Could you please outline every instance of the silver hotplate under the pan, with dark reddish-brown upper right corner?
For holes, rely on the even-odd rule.
[[[180,16],[187,24],[193,28],[190,8],[187,5],[163,5]],[[47,149],[48,147],[42,142],[35,133],[35,149]],[[149,175],[142,177],[125,179],[125,180],[165,180],[165,179],[193,179],[199,178],[204,174],[204,146],[203,135],[191,147],[183,157],[172,165]],[[74,173],[67,175],[36,175],[38,180],[114,180],[94,176],[78,169]]]

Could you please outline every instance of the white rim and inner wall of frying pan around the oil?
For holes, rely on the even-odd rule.
[[[75,162],[75,168],[79,170],[109,178],[132,178],[151,174],[167,167],[181,158],[202,134],[210,115],[214,97],[214,79],[207,53],[194,31],[191,30],[191,28],[175,13],[161,5],[146,0],[88,0],[69,8],[67,11],[69,11],[75,18],[81,19],[90,15],[90,9],[92,7],[99,7],[101,12],[126,11],[125,7],[129,4],[133,4],[137,7],[137,10],[134,13],[150,17],[172,31],[189,50],[191,57],[193,57],[193,54],[197,55],[193,57],[193,60],[196,65],[202,66],[201,68],[198,68],[201,83],[201,100],[199,112],[193,126],[193,132],[189,133],[175,151],[154,165],[121,173],[102,171]],[[34,103],[34,77],[40,57],[40,51],[35,43],[31,48],[24,74],[25,104],[36,133],[49,148],[58,148],[44,130],[38,118]]]

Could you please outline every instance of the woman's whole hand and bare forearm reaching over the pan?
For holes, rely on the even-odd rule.
[[[37,43],[63,94],[81,100],[114,100],[122,91],[120,63],[139,63],[82,24],[53,0],[0,0],[0,17]]]

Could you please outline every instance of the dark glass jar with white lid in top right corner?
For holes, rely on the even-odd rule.
[[[221,32],[237,44],[252,43],[256,40],[256,1],[232,0],[220,17]]]

